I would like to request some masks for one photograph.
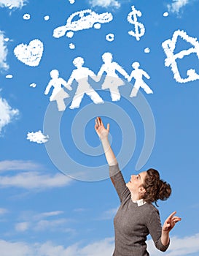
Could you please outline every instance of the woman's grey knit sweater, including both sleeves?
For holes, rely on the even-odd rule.
[[[162,227],[159,211],[151,203],[133,203],[118,165],[109,167],[109,175],[120,197],[120,208],[114,217],[115,249],[113,256],[149,256],[147,236],[150,234],[157,249],[165,252],[161,243]]]

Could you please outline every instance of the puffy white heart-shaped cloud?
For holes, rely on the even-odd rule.
[[[34,39],[29,42],[29,45],[20,44],[14,49],[15,56],[17,59],[24,64],[36,67],[42,59],[44,51],[44,44],[39,39]]]

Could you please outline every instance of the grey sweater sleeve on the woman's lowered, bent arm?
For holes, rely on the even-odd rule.
[[[170,241],[166,246],[163,245],[161,242],[162,225],[160,222],[159,211],[156,208],[154,211],[152,211],[147,227],[149,229],[149,233],[152,236],[152,240],[154,241],[156,248],[159,249],[161,252],[165,252],[168,249]]]

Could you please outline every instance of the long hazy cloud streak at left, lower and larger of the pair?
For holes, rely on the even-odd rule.
[[[0,176],[0,187],[18,187],[23,189],[51,189],[71,184],[71,178],[61,173],[55,175],[38,172],[23,172],[12,176]]]

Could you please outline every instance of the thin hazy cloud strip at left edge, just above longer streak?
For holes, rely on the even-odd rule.
[[[36,164],[32,161],[23,160],[4,160],[0,161],[0,170],[41,170],[42,165]]]

